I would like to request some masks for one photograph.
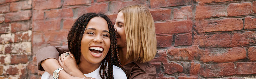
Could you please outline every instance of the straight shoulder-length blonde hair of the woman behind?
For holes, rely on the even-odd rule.
[[[126,60],[134,57],[133,61],[140,63],[151,61],[156,54],[157,41],[154,20],[149,9],[143,5],[129,5],[119,9],[120,11],[124,15]]]

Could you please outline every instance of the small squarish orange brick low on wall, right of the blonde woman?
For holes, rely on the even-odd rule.
[[[200,63],[194,63],[194,62],[191,62],[190,63],[190,75],[197,75],[200,68],[201,68],[201,64]]]

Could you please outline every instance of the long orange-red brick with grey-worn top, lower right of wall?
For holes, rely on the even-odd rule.
[[[201,60],[203,62],[235,62],[237,60],[246,58],[246,49],[242,47],[211,48],[205,50],[206,52],[202,53],[201,55]]]

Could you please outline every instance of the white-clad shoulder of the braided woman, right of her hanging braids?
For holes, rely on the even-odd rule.
[[[113,65],[113,74],[114,74],[114,79],[127,79],[124,71],[115,65]]]

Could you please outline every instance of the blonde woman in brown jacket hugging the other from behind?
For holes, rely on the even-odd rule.
[[[128,79],[155,79],[156,69],[149,61],[151,61],[156,54],[157,42],[155,25],[149,9],[143,5],[129,5],[119,9],[114,27],[117,38],[117,51],[120,55],[121,64],[128,75]],[[37,54],[47,53],[58,55],[59,53],[68,51],[67,46],[56,46],[43,48],[38,51]],[[115,56],[117,56],[118,60],[118,55]],[[44,62],[54,61],[57,58],[51,57],[47,59],[47,57],[37,58],[38,68],[53,71],[54,69],[49,68],[51,64]],[[117,62],[117,60],[114,60],[114,62]],[[59,66],[58,63],[52,64]],[[75,67],[69,67],[67,73],[78,74],[79,72],[74,71],[73,68]],[[73,74],[70,75],[73,76]],[[62,77],[64,74],[60,74],[60,76]]]

